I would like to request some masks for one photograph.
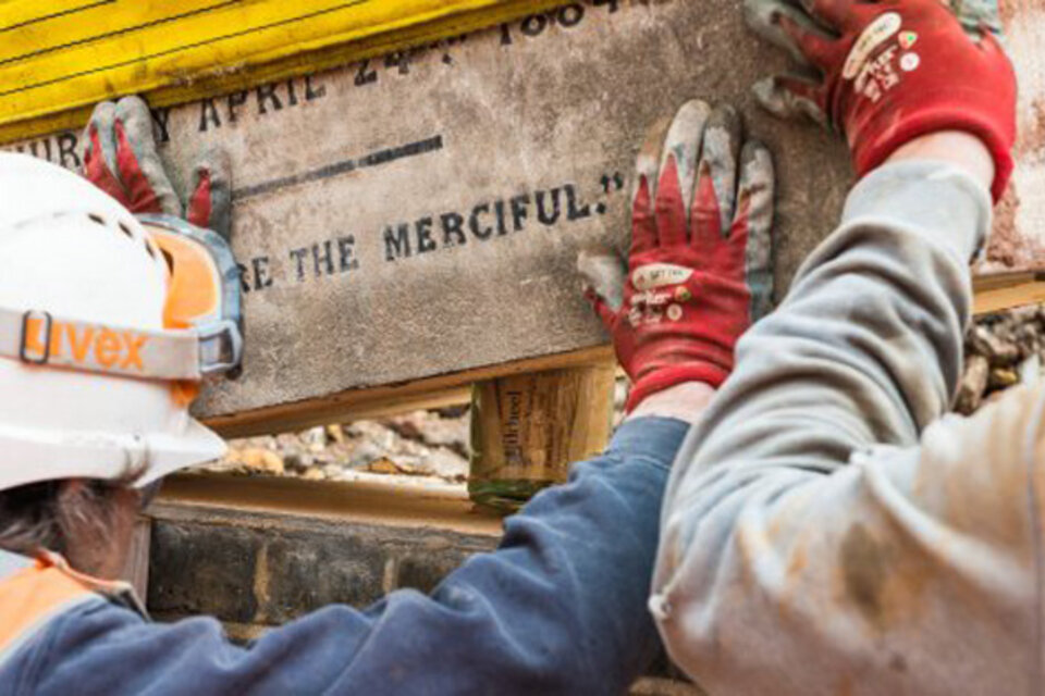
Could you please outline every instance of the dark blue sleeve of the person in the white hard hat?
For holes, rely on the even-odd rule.
[[[655,656],[647,611],[661,498],[688,425],[626,423],[567,485],[505,523],[431,596],[331,606],[244,648],[212,619],[142,622],[112,606],[47,632],[34,694],[613,694]]]

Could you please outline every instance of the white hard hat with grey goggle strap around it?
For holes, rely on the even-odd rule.
[[[0,490],[135,471],[145,486],[224,453],[188,413],[208,351],[172,324],[173,263],[86,179],[0,153]]]

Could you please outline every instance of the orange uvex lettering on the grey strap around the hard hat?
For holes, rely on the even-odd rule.
[[[145,372],[142,349],[148,339],[133,331],[26,318],[23,350],[30,361]]]

